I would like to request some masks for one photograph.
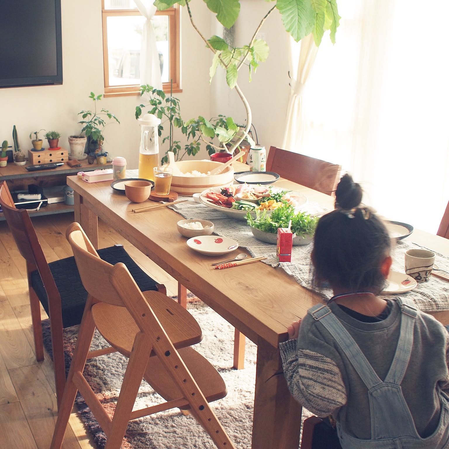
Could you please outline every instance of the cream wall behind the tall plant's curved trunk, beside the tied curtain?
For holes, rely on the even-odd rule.
[[[257,26],[273,3],[265,1],[241,0],[238,21],[235,24],[235,46],[249,44]],[[216,28],[215,33],[220,30]],[[247,67],[239,71],[238,85],[247,98],[252,111],[259,144],[268,150],[270,145],[282,146],[285,118],[290,93],[288,78],[289,35],[282,25],[280,13],[275,9],[264,22],[261,33],[270,49],[266,62],[260,63],[249,82]],[[246,112],[237,92],[227,87],[224,70],[217,70],[212,81],[214,89],[211,103],[212,114],[225,114],[238,123],[244,123]],[[255,136],[253,135],[255,138]]]

